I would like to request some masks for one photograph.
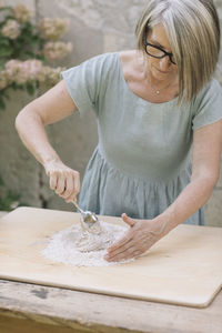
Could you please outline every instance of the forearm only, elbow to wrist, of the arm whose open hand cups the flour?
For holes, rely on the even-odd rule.
[[[192,180],[176,200],[157,219],[162,221],[163,233],[168,233],[188,220],[210,199],[215,182],[208,178]]]

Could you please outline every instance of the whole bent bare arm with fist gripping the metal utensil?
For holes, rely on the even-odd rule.
[[[63,81],[24,107],[16,119],[16,128],[27,149],[44,167],[50,188],[68,202],[80,191],[79,172],[62,163],[50,144],[44,127],[72,114],[77,105]]]

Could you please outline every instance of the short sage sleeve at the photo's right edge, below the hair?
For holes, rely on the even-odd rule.
[[[222,88],[212,80],[196,97],[193,103],[193,131],[222,119]]]

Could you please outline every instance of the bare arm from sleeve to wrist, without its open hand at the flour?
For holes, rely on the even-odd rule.
[[[220,178],[221,151],[222,120],[194,132],[191,182],[159,216],[169,221],[170,230],[188,220],[210,199]]]

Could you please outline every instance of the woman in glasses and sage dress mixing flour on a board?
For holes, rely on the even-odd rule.
[[[70,202],[80,192],[79,172],[62,163],[44,127],[77,110],[94,111],[99,144],[79,204],[122,215],[130,225],[108,249],[108,261],[144,253],[182,222],[203,224],[202,206],[220,172],[222,91],[212,79],[220,27],[213,1],[150,0],[137,38],[138,50],[64,71],[16,121],[50,188]]]

